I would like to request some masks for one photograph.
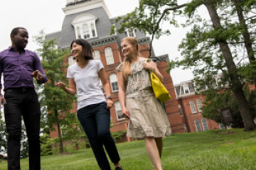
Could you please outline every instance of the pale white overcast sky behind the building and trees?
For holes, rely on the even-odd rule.
[[[131,12],[139,6],[138,0],[105,0],[109,8],[111,17],[122,16]],[[13,28],[23,27],[28,30],[29,39],[26,49],[36,50],[38,46],[33,42],[33,35],[37,35],[39,30],[45,29],[46,33],[53,33],[61,30],[65,14],[62,8],[65,7],[66,0],[10,0],[1,1],[0,6],[0,51],[11,45],[10,33]],[[183,18],[177,18],[184,21]],[[168,23],[164,23],[165,29],[171,30],[171,35],[163,36],[159,40],[153,41],[156,56],[168,54],[170,60],[181,57],[178,45],[182,38],[185,38],[188,28],[174,28]],[[174,84],[181,81],[193,79],[191,70],[174,69],[171,71]]]

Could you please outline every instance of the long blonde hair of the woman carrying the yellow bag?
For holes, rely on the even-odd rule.
[[[136,46],[136,55],[137,57],[139,57],[139,42],[136,38],[133,37],[127,37],[122,39],[122,42],[124,42],[124,40],[127,40],[127,42],[132,45],[132,46]],[[123,68],[122,68],[122,74],[123,74],[123,78],[124,78],[124,82],[128,81],[128,75],[132,76],[132,62],[129,60],[128,57],[126,57],[124,59],[123,62]]]

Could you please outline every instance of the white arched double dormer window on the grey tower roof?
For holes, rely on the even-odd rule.
[[[83,13],[77,16],[71,23],[75,27],[76,38],[95,38],[97,37],[96,16],[89,13]]]

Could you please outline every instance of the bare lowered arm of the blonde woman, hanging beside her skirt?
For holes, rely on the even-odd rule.
[[[119,103],[122,108],[122,115],[124,115],[124,118],[129,118],[129,113],[127,111],[127,108],[125,107],[125,84],[124,84],[124,77],[122,72],[117,73],[117,84],[119,89]]]

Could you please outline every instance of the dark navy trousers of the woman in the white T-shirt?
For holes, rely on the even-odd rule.
[[[110,135],[110,110],[106,109],[107,103],[98,103],[77,111],[78,120],[88,137],[97,163],[102,170],[110,170],[110,163],[107,160],[105,149],[113,163],[119,162],[119,154]]]

